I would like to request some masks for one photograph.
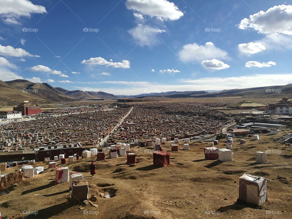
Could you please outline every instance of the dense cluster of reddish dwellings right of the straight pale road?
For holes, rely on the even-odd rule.
[[[198,103],[132,104],[133,110],[110,135],[108,143],[155,137],[188,138],[217,134],[230,126],[232,117]]]

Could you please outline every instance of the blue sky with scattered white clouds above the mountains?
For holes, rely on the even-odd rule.
[[[290,4],[0,0],[0,80],[115,95],[285,85]]]

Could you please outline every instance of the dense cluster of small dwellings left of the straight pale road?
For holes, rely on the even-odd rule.
[[[0,150],[23,150],[79,142],[95,146],[109,134],[129,109],[70,108],[53,111],[54,116],[0,126]],[[71,114],[70,114],[71,113]]]

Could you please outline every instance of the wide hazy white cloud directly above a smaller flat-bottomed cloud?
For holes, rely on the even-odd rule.
[[[216,47],[214,43],[207,42],[205,45],[198,45],[197,43],[186,44],[182,50],[179,51],[179,58],[182,61],[203,61],[212,58],[227,59],[226,51]]]

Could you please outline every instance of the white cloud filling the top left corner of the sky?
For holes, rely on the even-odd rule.
[[[45,7],[28,0],[1,0],[0,15],[6,23],[21,24],[20,16],[30,18],[32,13],[46,13]]]

